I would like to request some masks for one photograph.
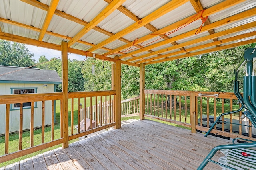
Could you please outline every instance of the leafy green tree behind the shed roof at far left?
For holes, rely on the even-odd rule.
[[[34,55],[24,44],[0,40],[0,65],[29,67],[35,64]]]

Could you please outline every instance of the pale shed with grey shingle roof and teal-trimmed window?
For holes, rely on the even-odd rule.
[[[56,92],[61,79],[55,70],[0,66],[0,95]],[[54,105],[55,106],[55,105]],[[45,125],[52,122],[52,104],[45,102]],[[31,102],[23,103],[23,129],[30,128]],[[0,134],[5,133],[6,107],[0,105]],[[42,125],[42,102],[34,102],[34,127]],[[55,109],[54,109],[55,115]],[[10,105],[10,132],[19,131],[20,104]]]

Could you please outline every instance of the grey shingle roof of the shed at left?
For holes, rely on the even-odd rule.
[[[14,66],[0,66],[0,82],[3,81],[17,83],[61,83],[61,79],[55,70],[40,70],[38,68],[24,68]]]

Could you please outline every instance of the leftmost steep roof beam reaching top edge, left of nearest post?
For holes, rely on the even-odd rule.
[[[52,0],[51,3],[50,3],[50,7],[48,9],[48,12],[46,14],[46,18],[44,19],[44,23],[43,23],[43,26],[42,26],[42,30],[39,34],[39,37],[38,37],[38,41],[42,41],[43,38],[44,38],[44,35],[45,35],[45,32],[52,20],[52,17],[53,17],[53,14],[57,8],[57,5],[59,3],[59,0]]]

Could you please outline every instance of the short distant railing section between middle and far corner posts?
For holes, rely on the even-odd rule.
[[[140,96],[121,101],[121,117],[139,115],[139,99]]]

